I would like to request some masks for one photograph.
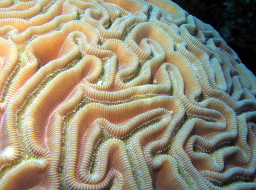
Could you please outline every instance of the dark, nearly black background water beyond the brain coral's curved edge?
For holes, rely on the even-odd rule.
[[[256,0],[173,0],[212,25],[256,75]]]

